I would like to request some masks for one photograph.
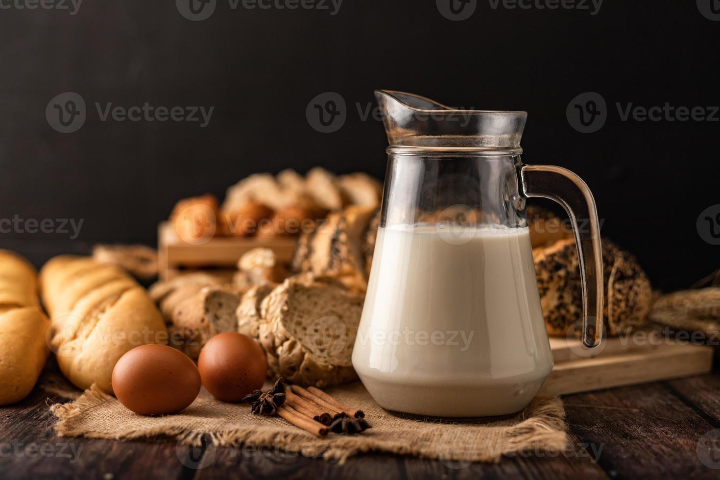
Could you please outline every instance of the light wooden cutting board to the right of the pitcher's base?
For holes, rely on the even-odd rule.
[[[660,345],[652,345],[607,338],[599,347],[588,349],[580,340],[551,338],[555,365],[539,394],[572,394],[711,371],[713,347],[662,340],[657,342]]]

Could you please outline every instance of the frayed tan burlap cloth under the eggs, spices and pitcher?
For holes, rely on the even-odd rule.
[[[49,376],[42,388],[73,397],[64,379]],[[267,385],[266,385],[267,387]],[[341,402],[362,409],[372,428],[359,435],[317,438],[280,417],[257,417],[247,404],[218,402],[204,389],[179,415],[143,417],[94,387],[74,402],[53,404],[60,436],[129,440],[169,437],[189,445],[272,445],[304,456],[345,461],[363,452],[389,452],[446,461],[499,461],[520,451],[559,451],[567,445],[564,408],[558,398],[535,399],[502,420],[441,422],[394,415],[378,406],[361,383],[329,389]]]

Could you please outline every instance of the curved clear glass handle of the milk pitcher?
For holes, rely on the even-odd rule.
[[[582,178],[565,168],[523,165],[519,174],[524,196],[557,201],[570,216],[582,281],[582,343],[596,347],[603,331],[603,257],[593,194]],[[588,228],[580,230],[577,219],[588,219]]]

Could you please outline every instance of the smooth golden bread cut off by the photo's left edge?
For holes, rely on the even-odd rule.
[[[48,359],[50,321],[37,301],[37,273],[24,258],[0,250],[0,405],[19,402]]]

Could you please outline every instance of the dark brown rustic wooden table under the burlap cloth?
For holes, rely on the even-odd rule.
[[[36,388],[0,408],[1,479],[719,478],[720,373],[564,397],[572,448],[497,464],[366,454],[337,465],[265,448],[189,448],[172,440],[58,438]]]

